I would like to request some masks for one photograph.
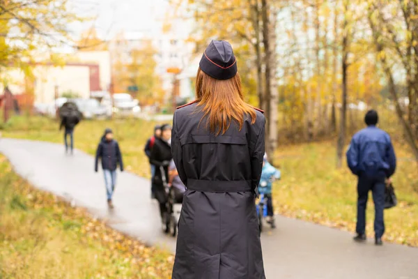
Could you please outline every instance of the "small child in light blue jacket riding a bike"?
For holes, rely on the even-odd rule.
[[[280,179],[281,172],[276,169],[267,160],[267,154],[264,154],[263,169],[261,170],[261,179],[258,186],[258,193],[264,194],[267,197],[267,222],[272,226],[272,229],[276,227],[274,224],[274,210],[272,199],[272,183],[274,179]]]

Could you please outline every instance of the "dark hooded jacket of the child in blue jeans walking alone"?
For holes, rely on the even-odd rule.
[[[102,160],[103,169],[116,170],[119,164],[121,171],[123,172],[122,153],[116,140],[108,142],[104,139],[104,137],[102,137],[95,156],[96,172],[98,171],[99,158]]]

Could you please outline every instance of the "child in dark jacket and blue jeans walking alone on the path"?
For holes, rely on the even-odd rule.
[[[116,140],[114,140],[113,133],[109,128],[104,130],[104,135],[102,136],[96,151],[94,166],[95,172],[98,172],[99,158],[102,160],[104,185],[106,186],[107,192],[107,204],[109,205],[109,208],[112,209],[113,204],[111,202],[111,198],[116,185],[116,169],[119,164],[121,172],[123,172],[123,160],[119,144]]]

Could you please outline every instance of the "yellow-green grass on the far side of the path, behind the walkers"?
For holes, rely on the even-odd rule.
[[[149,177],[144,144],[154,123],[138,119],[83,121],[75,130],[75,145],[93,154],[104,128],[113,128],[121,144],[125,165],[131,172]],[[62,142],[58,123],[49,119],[11,119],[4,137]],[[387,241],[418,246],[418,165],[408,147],[395,144],[398,169],[394,186],[399,204],[385,211]],[[356,220],[356,179],[347,167],[335,168],[334,142],[280,146],[275,154],[282,179],[274,186],[276,211],[323,225],[354,232]],[[93,166],[92,166],[93,168]],[[373,236],[373,202],[369,199],[367,233]],[[280,224],[278,224],[280,226]]]

